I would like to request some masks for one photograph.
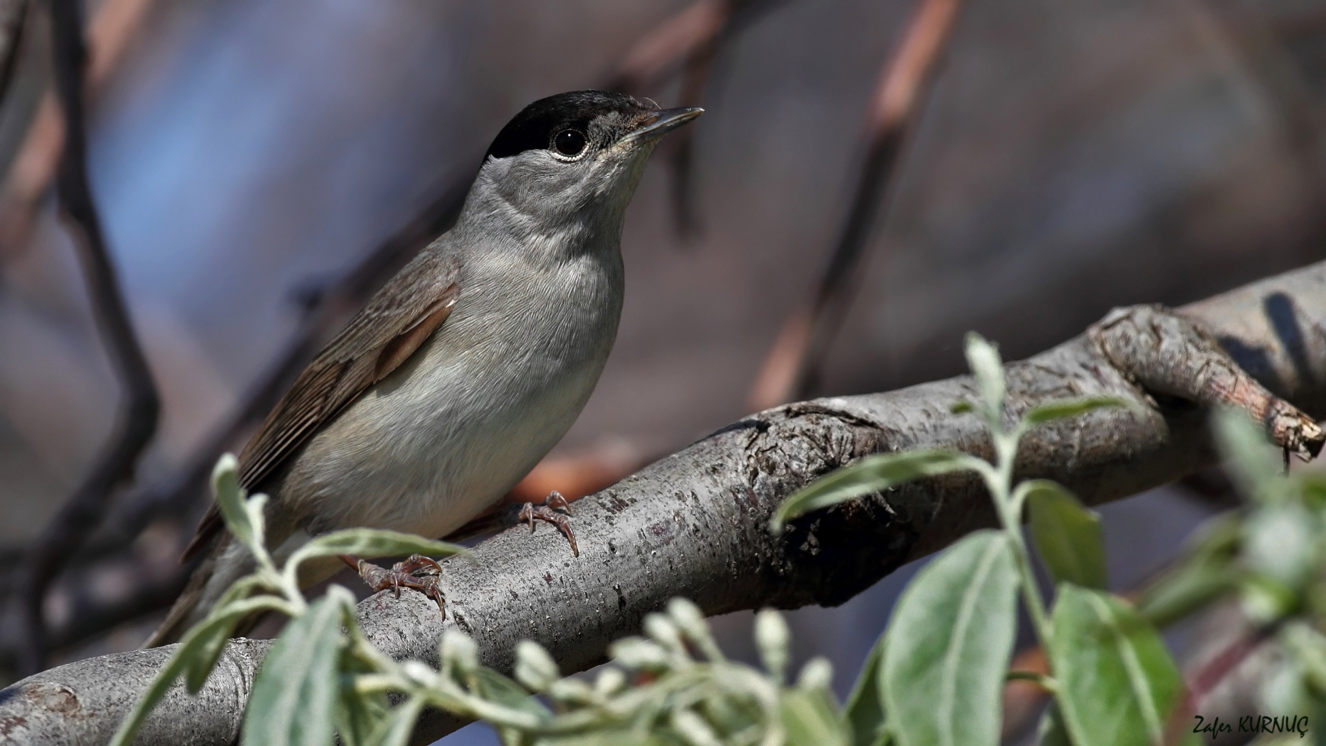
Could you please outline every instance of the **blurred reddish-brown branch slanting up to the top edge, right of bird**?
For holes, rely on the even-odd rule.
[[[782,327],[751,390],[751,409],[806,398],[851,303],[854,277],[894,179],[908,126],[952,36],[961,0],[920,0],[898,52],[880,70],[866,118],[867,150],[838,244],[814,300]]]

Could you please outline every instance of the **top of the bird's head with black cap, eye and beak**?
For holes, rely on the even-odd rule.
[[[652,142],[703,109],[663,109],[607,90],[573,90],[525,106],[497,133],[487,157],[546,150],[564,159],[622,142]]]

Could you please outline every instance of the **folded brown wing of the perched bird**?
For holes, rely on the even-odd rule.
[[[313,433],[419,349],[451,315],[457,296],[455,265],[426,251],[369,300],[322,348],[281,397],[239,459],[240,485],[257,487]],[[213,504],[182,561],[198,555],[223,528]]]

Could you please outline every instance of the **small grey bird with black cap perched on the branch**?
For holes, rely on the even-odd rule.
[[[701,113],[575,90],[497,133],[455,226],[322,348],[240,453],[240,485],[269,496],[277,559],[349,527],[446,536],[542,459],[613,349],[622,227],[650,154]],[[553,500],[522,516],[558,520]],[[196,556],[145,646],[178,640],[255,569],[215,504],[182,561]]]

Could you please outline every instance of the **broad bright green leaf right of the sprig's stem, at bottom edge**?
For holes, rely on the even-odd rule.
[[[1183,678],[1155,628],[1123,600],[1067,583],[1052,625],[1055,701],[1073,742],[1160,743]]]

